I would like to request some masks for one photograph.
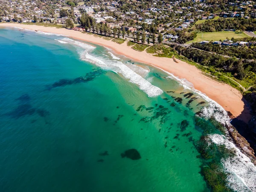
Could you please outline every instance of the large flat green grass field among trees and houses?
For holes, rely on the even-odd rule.
[[[197,37],[193,39],[192,41],[187,42],[188,44],[190,43],[195,43],[195,42],[200,42],[200,41],[219,41],[220,39],[223,41],[227,38],[245,38],[249,37],[246,35],[244,32],[204,32],[204,33],[198,33]]]

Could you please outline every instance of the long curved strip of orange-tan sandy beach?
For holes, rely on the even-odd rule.
[[[194,85],[195,89],[206,94],[210,99],[220,104],[226,111],[230,111],[236,117],[239,116],[242,111],[244,111],[246,113],[240,116],[239,119],[243,119],[245,122],[250,119],[250,115],[248,114],[249,110],[245,107],[244,102],[242,101],[242,95],[238,90],[230,87],[227,84],[210,79],[195,66],[189,65],[186,62],[177,59],[178,63],[176,63],[172,58],[159,58],[148,54],[145,51],[135,51],[134,49],[131,49],[131,47],[128,47],[126,43],[117,44],[113,41],[108,41],[103,38],[83,34],[81,32],[69,29],[57,29],[55,27],[25,25],[18,23],[0,23],[0,27],[4,26],[20,27],[23,29],[69,35],[70,37],[79,39],[81,41],[87,41],[108,47],[113,49],[113,51],[119,55],[125,55],[134,61],[139,61],[141,63],[150,64],[161,68],[162,70],[172,73],[179,79],[186,79]]]

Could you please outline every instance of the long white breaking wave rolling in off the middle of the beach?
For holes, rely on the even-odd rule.
[[[145,80],[139,74],[135,73],[131,68],[127,67],[121,61],[108,60],[105,58],[96,57],[92,54],[89,54],[91,51],[93,51],[93,49],[95,49],[95,47],[81,43],[79,41],[74,41],[69,38],[63,38],[62,41],[82,48],[82,50],[78,50],[81,60],[89,61],[93,64],[96,64],[99,67],[102,67],[102,69],[111,70],[116,73],[122,74],[122,76],[124,76],[126,79],[129,79],[131,83],[137,84],[140,90],[143,90],[143,92],[145,92],[149,97],[159,96],[163,93],[163,90],[161,90],[159,87],[152,85],[150,82]],[[143,69],[142,67],[140,68]]]

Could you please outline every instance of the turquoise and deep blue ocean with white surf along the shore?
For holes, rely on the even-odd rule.
[[[256,191],[226,111],[185,79],[19,28],[0,53],[1,192]]]

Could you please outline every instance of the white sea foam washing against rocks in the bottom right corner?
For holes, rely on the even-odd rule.
[[[210,140],[217,145],[225,145],[226,148],[235,151],[235,157],[222,159],[224,171],[228,174],[227,186],[238,192],[256,192],[256,167],[251,163],[249,157],[241,153],[236,145],[226,137],[213,134],[209,135]]]

